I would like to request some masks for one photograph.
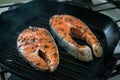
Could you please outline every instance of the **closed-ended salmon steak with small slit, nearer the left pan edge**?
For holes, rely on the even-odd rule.
[[[45,28],[29,27],[17,39],[20,54],[36,69],[54,72],[59,64],[57,45]]]

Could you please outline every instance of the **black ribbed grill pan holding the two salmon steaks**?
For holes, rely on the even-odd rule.
[[[18,35],[29,25],[49,30],[49,18],[70,14],[85,22],[100,40],[104,55],[91,62],[82,62],[68,55],[61,47],[60,64],[54,73],[40,72],[30,66],[16,48]],[[53,1],[31,1],[0,15],[0,65],[28,80],[93,80],[101,76],[119,41],[118,26],[111,18],[72,4]],[[111,65],[109,65],[111,66]]]

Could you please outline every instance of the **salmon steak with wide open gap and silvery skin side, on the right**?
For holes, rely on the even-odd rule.
[[[58,43],[70,55],[81,61],[93,60],[93,54],[101,57],[103,54],[102,46],[89,27],[80,19],[67,15],[53,15],[49,24],[53,36]],[[72,37],[81,39],[90,45],[80,45]]]

